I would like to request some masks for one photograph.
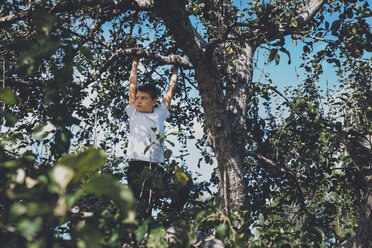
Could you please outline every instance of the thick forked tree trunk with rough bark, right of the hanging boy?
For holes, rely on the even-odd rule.
[[[172,33],[179,48],[189,57],[195,69],[208,145],[212,147],[218,164],[218,203],[226,213],[239,210],[247,203],[247,184],[242,170],[245,150],[245,117],[247,86],[251,82],[253,49],[244,48],[238,58],[238,74],[226,89],[214,55],[198,35],[179,0],[158,0],[156,8]]]

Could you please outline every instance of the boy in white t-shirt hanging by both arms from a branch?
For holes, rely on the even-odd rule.
[[[173,58],[177,58],[173,55]],[[141,178],[144,168],[156,170],[157,164],[164,162],[163,144],[157,135],[164,132],[164,122],[169,116],[168,107],[177,84],[178,67],[173,66],[172,76],[163,101],[158,104],[158,90],[152,84],[137,87],[138,57],[133,58],[129,78],[129,105],[125,111],[129,116],[129,142],[127,157],[128,185],[138,201],[139,217],[151,215],[151,193],[148,185]]]

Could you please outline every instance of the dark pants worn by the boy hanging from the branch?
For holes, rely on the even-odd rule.
[[[130,161],[128,167],[127,181],[137,200],[137,217],[139,220],[151,216],[152,203],[154,199],[153,178],[159,172],[159,166],[156,163],[146,161]]]

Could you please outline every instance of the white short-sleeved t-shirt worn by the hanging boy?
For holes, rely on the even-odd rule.
[[[164,132],[164,122],[169,112],[164,103],[153,109],[152,113],[136,110],[135,104],[125,108],[129,116],[128,159],[138,159],[153,163],[164,162],[164,147],[156,135]],[[151,145],[151,146],[150,146]],[[146,147],[150,148],[146,151]]]

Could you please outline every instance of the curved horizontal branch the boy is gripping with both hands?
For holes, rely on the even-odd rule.
[[[172,57],[159,55],[156,53],[152,53],[150,51],[138,50],[136,48],[119,49],[108,60],[106,60],[106,62],[100,68],[98,68],[91,77],[89,77],[85,82],[83,82],[80,85],[80,87],[81,88],[87,87],[89,84],[96,81],[102,75],[102,73],[104,73],[107,70],[107,68],[110,65],[112,65],[119,57],[129,55],[137,55],[139,57],[151,58],[153,60],[160,62],[161,64],[176,64],[182,66],[184,69],[193,68],[192,64],[187,59],[182,57],[174,59]]]

